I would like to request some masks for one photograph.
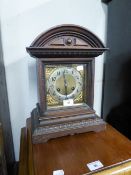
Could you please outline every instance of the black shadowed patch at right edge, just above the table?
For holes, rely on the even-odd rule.
[[[107,116],[107,122],[131,139],[131,58],[120,71],[123,102],[114,107]]]

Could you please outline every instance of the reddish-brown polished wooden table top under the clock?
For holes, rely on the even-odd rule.
[[[103,168],[91,172],[87,163],[100,160]],[[131,142],[107,124],[99,133],[83,133],[31,143],[30,119],[21,131],[19,175],[131,175]]]

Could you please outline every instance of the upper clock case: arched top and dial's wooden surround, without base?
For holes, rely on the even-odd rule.
[[[69,41],[68,41],[69,40]],[[81,63],[88,64],[88,105],[93,107],[94,57],[107,48],[89,30],[76,25],[61,25],[39,35],[27,47],[27,52],[38,60],[39,103],[42,112],[46,110],[46,92],[43,64]],[[72,58],[72,59],[71,59]]]

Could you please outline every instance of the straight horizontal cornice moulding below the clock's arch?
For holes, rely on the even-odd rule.
[[[106,48],[87,48],[87,47],[69,47],[65,48],[59,47],[59,48],[43,48],[43,47],[29,47],[27,48],[28,52],[31,53],[30,55],[37,58],[42,58],[44,62],[52,62],[52,61],[60,61],[67,62],[65,58],[73,58],[72,62],[82,62],[82,61],[88,61],[88,58],[96,57],[101,55]],[[57,57],[57,59],[54,59]],[[61,59],[58,59],[61,58]],[[81,59],[78,59],[81,58]]]

